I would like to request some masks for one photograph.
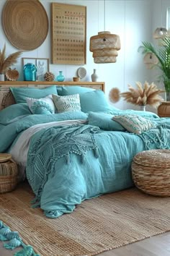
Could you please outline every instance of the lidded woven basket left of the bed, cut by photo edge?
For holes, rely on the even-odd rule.
[[[0,193],[12,191],[17,185],[17,163],[0,163]]]

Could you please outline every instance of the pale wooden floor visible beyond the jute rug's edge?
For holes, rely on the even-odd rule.
[[[0,242],[1,256],[12,256],[17,250],[18,249],[10,251],[3,249],[2,243]],[[152,236],[151,238],[144,239],[140,242],[128,244],[107,252],[102,252],[99,256],[170,256],[170,232],[166,232],[158,236]]]

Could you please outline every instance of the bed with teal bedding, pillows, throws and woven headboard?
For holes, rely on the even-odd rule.
[[[0,88],[0,152],[12,154],[19,182],[27,177],[35,193],[32,207],[48,218],[133,187],[135,154],[170,149],[169,118],[120,111],[109,106],[102,89],[93,83]]]

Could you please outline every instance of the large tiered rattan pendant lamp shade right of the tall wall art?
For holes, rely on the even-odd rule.
[[[115,63],[119,50],[119,35],[103,31],[90,38],[90,51],[93,52],[94,63]]]

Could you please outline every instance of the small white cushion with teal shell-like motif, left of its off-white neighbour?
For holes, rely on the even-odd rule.
[[[52,95],[45,98],[26,98],[27,105],[32,114],[54,114],[55,105],[53,103]]]

